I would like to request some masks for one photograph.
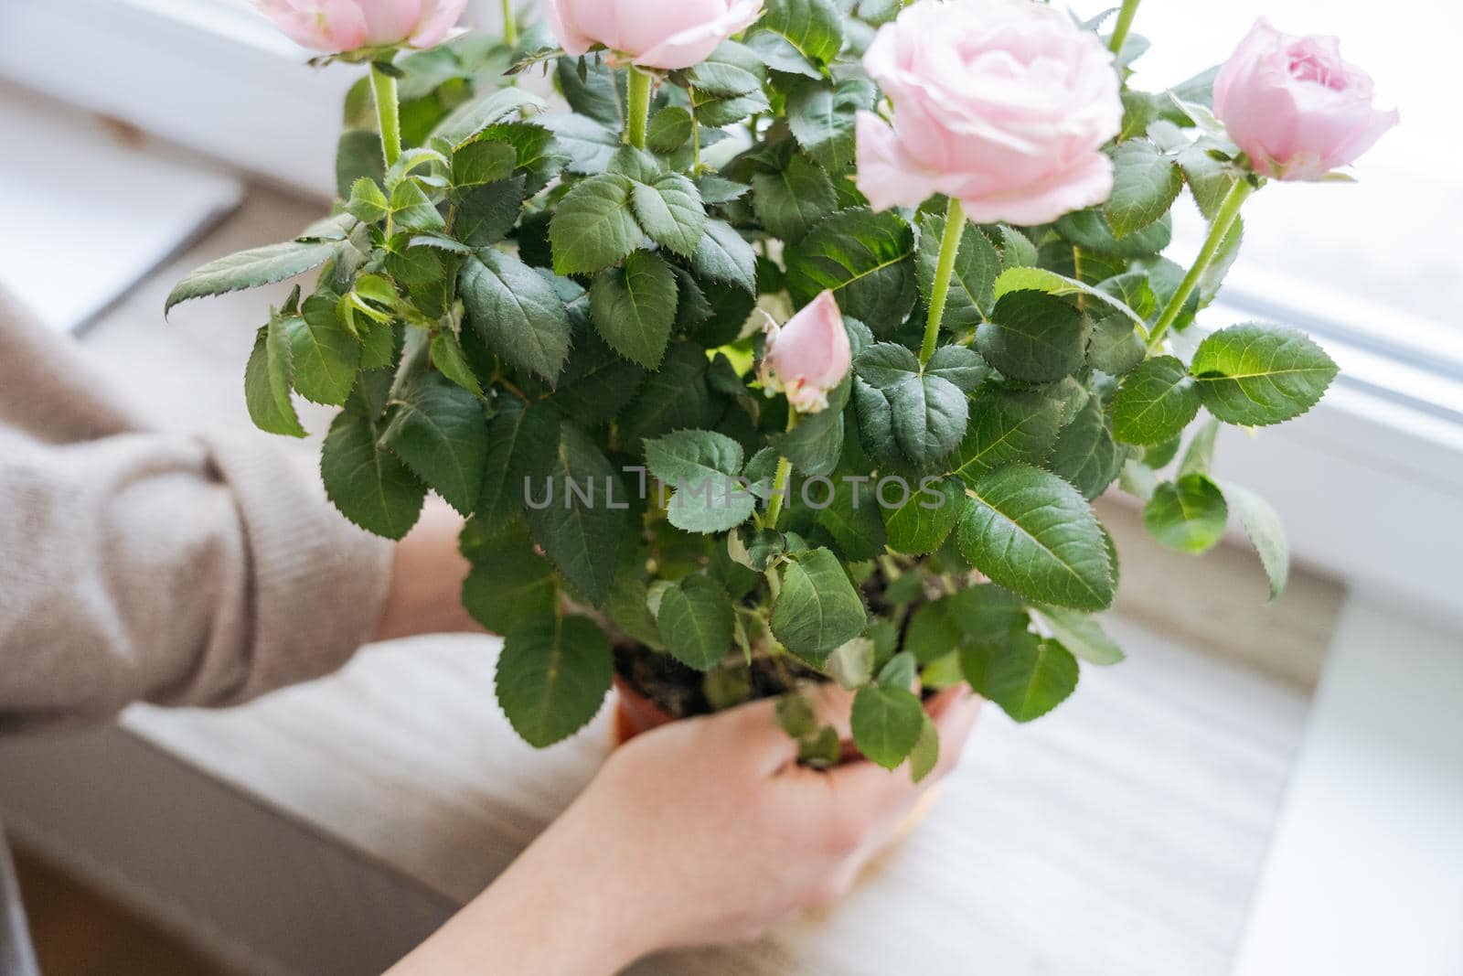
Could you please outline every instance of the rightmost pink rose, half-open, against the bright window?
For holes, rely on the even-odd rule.
[[[1264,18],[1214,79],[1214,114],[1260,176],[1320,180],[1397,124],[1334,37],[1282,34]]]

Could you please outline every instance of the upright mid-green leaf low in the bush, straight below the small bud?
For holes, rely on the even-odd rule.
[[[868,612],[843,563],[828,549],[799,553],[783,571],[772,635],[793,654],[822,666],[828,653],[863,634]]]

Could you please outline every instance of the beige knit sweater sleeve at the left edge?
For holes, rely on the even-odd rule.
[[[0,733],[325,675],[389,568],[274,439],[149,429],[0,294]]]

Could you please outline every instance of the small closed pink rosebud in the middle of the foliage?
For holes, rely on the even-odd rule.
[[[800,414],[828,407],[828,391],[843,382],[853,363],[843,312],[831,291],[822,291],[778,328],[767,320],[767,350],[761,380],[768,394],[787,394]]]

